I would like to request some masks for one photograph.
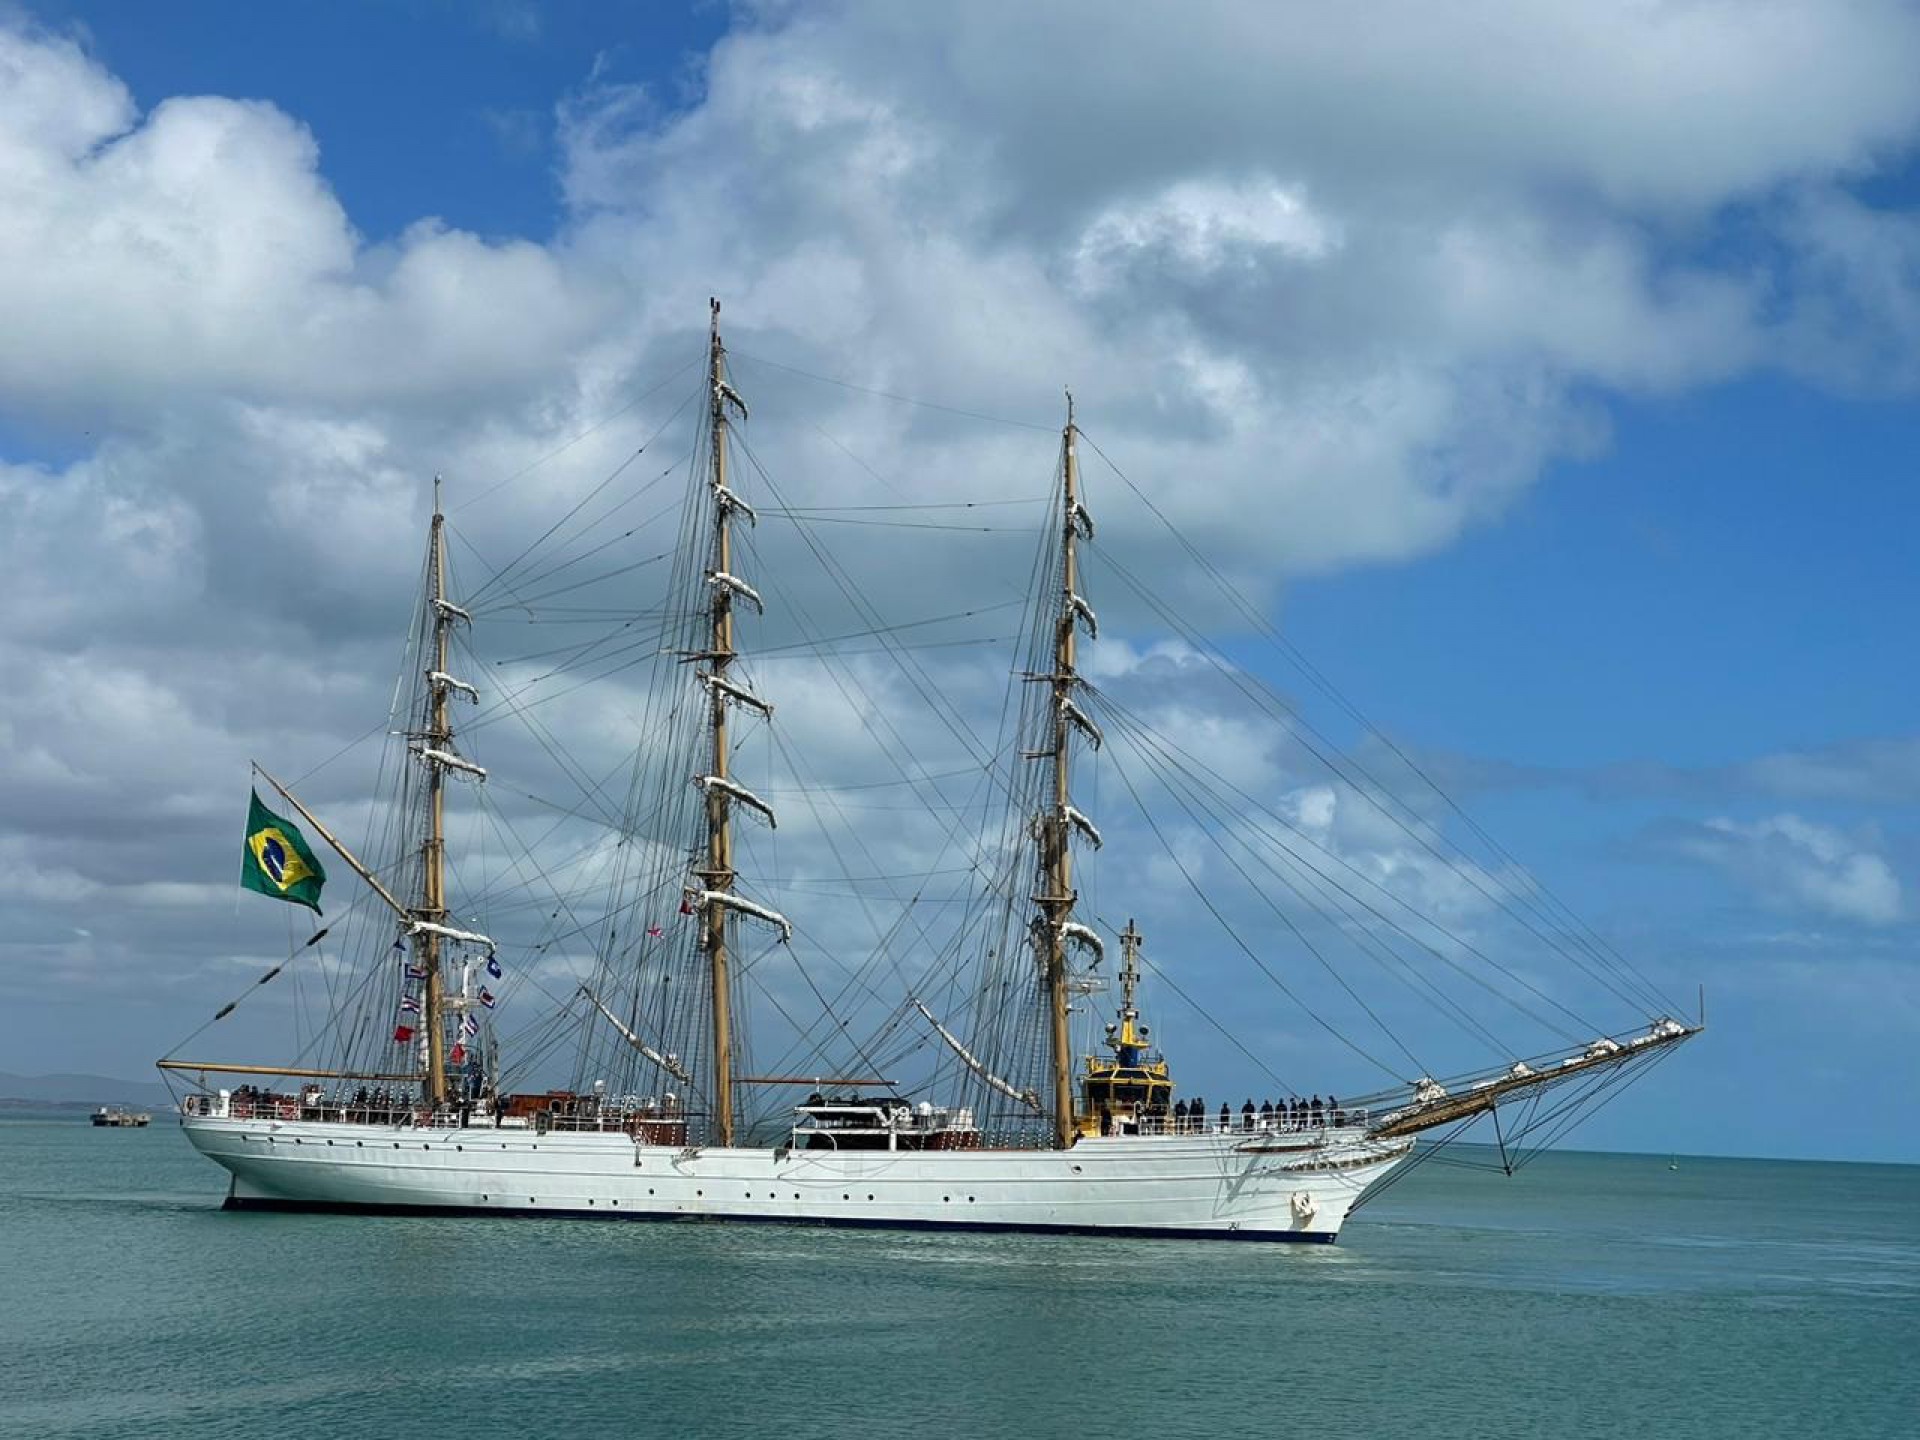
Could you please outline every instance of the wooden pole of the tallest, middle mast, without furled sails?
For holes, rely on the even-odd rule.
[[[726,484],[726,348],[720,344],[720,301],[712,305],[712,323],[707,346],[707,380],[712,399],[712,465],[714,465],[714,576],[732,576],[733,551],[733,513],[726,503],[732,492]],[[712,634],[707,660],[712,676],[726,682],[728,664],[733,660],[733,591],[726,584],[710,582],[712,591]],[[728,733],[726,733],[726,695],[720,685],[710,685],[710,724],[712,724],[712,770],[710,776],[728,780]],[[707,785],[707,870],[701,872],[708,891],[733,889],[733,826],[732,803],[724,783]],[[712,1077],[714,1077],[714,1139],[720,1144],[733,1144],[733,1014],[726,948],[726,906],[708,904],[705,908],[705,947],[712,979]]]

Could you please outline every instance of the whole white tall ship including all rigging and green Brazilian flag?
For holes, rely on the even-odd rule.
[[[659,557],[664,605],[574,605],[566,643],[490,660],[474,636],[490,611],[534,616],[591,593],[584,566],[612,541],[582,501],[457,593],[436,482],[390,785],[365,806],[363,839],[257,770],[244,883],[319,912],[332,866],[348,874],[342,883],[353,895],[215,1016],[307,972],[301,995],[319,1002],[288,1052],[215,1060],[196,1033],[159,1062],[186,1139],[228,1173],[227,1206],[1331,1242],[1467,1127],[1511,1169],[1697,1033],[1544,887],[1465,858],[1432,806],[1409,806],[1377,758],[1342,756],[1140,576],[1114,570],[1131,612],[1167,616],[1171,689],[1146,703],[1087,668],[1098,551],[1071,397],[1035,526],[1025,651],[987,743],[966,718],[981,707],[943,689],[950,676],[906,639],[931,620],[879,612],[820,540],[820,509],[785,501],[747,444],[718,303],[697,396],[687,499]],[[630,497],[589,499],[618,538]],[[839,593],[851,630],[810,636],[801,616],[774,628],[778,589],[755,570],[774,518],[828,578],[793,609]],[[634,568],[595,574],[605,588]],[[1279,641],[1263,618],[1244,630]],[[839,733],[812,726],[841,766],[818,783],[776,722],[766,674],[781,657],[806,662],[803,687],[831,701],[818,710],[851,716]],[[645,685],[632,687],[634,668]],[[501,693],[484,697],[492,676]],[[589,685],[614,691],[605,714],[630,730],[612,774],[561,753],[540,708],[582,705]],[[1200,733],[1198,710],[1177,703],[1190,685],[1246,699],[1235,733],[1265,735],[1265,758]],[[551,814],[492,803],[468,733],[495,720],[516,720],[532,737],[520,753],[572,781],[568,799],[543,801]],[[849,751],[870,778],[847,780]],[[1325,766],[1317,785],[1300,780],[1309,762]],[[862,808],[862,795],[891,804]],[[1421,874],[1446,876],[1475,916],[1509,918],[1519,958],[1484,924],[1396,895],[1377,856],[1315,818],[1331,799],[1398,824]],[[1112,839],[1094,801],[1127,806],[1121,824],[1102,820]],[[1117,902],[1102,883],[1096,904],[1094,854],[1129,843],[1158,849],[1123,864]],[[1137,910],[1177,925],[1169,960]],[[1188,1000],[1200,954],[1246,973],[1225,987],[1231,1020],[1304,1018],[1384,1083],[1344,1098],[1288,1085],[1284,1041],[1236,1039]],[[1549,960],[1611,1004],[1611,1027],[1580,1018]],[[1388,1058],[1371,1029],[1304,998],[1309,972],[1390,1039]],[[1256,1077],[1244,1098],[1181,1081],[1190,1060],[1160,1048],[1146,1010],[1167,996],[1194,1012],[1188,1044],[1215,1050],[1210,1075],[1240,1052]],[[1507,1012],[1526,1039],[1500,1033]],[[1409,1025],[1459,1031],[1473,1064],[1432,1064]],[[1461,1052],[1457,1037],[1430,1050]]]

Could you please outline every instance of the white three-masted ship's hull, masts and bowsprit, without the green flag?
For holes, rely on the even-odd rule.
[[[1332,1240],[1423,1133],[1505,1117],[1505,1150],[1528,1125],[1569,1114],[1567,1096],[1592,1096],[1695,1033],[1649,1004],[1630,1031],[1498,1054],[1444,1081],[1404,1075],[1357,1100],[1292,1094],[1215,1110],[1179,1089],[1140,1010],[1142,933],[1129,918],[1102,935],[1077,891],[1075,862],[1104,837],[1075,780],[1106,737],[1079,664],[1098,622],[1083,582],[1094,530],[1069,399],[1010,707],[1018,722],[989,787],[1006,820],[964,841],[981,876],[968,912],[977,924],[954,931],[939,966],[864,964],[837,995],[789,985],[781,1010],[804,998],[822,1012],[795,1025],[814,1048],[787,1073],[749,1073],[743,966],[766,966],[755,956],[780,952],[795,924],[756,899],[741,868],[741,826],[778,818],[735,766],[737,732],[770,728],[774,705],[743,666],[735,626],[766,601],[741,543],[758,515],[733,472],[747,411],[718,313],[714,303],[670,586],[684,603],[659,632],[664,682],[649,691],[618,839],[593,851],[611,895],[586,918],[574,900],[555,902],[547,941],[518,947],[449,899],[447,797],[455,783],[484,783],[486,770],[453,724],[455,703],[476,703],[480,689],[457,674],[474,614],[449,593],[436,484],[399,799],[382,810],[380,856],[361,858],[261,772],[365,883],[353,914],[367,954],[330,972],[328,1018],[300,1058],[159,1062],[184,1089],[188,1140],[230,1173],[228,1206]],[[1411,935],[1409,924],[1396,929]],[[553,993],[557,935],[589,937],[591,966],[566,973],[555,1020],[520,1039],[522,1062],[495,1029],[497,1000]],[[1119,943],[1110,1020],[1094,1004],[1108,937]],[[1288,927],[1265,945],[1288,939],[1309,943]],[[1457,968],[1461,954],[1442,958]],[[879,1039],[852,1043],[849,1006],[889,989]],[[566,1054],[570,1083],[526,1085]],[[879,1073],[916,1056],[916,1081]],[[745,1094],[774,1098],[755,1110]]]

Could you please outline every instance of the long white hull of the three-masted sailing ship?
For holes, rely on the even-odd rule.
[[[620,1133],[186,1116],[228,1204],[1332,1240],[1411,1140],[1085,1139],[1071,1150],[785,1150]]]

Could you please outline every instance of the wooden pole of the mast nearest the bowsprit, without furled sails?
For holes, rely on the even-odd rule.
[[[1073,1117],[1073,1041],[1068,1031],[1068,937],[1066,925],[1073,916],[1073,845],[1068,812],[1071,808],[1071,722],[1073,687],[1079,676],[1073,672],[1075,649],[1075,599],[1079,597],[1079,572],[1075,563],[1075,540],[1079,536],[1079,459],[1073,453],[1073,396],[1068,394],[1068,424],[1062,432],[1062,511],[1060,511],[1060,618],[1054,622],[1054,670],[1052,670],[1052,806],[1043,822],[1046,849],[1046,895],[1041,904],[1046,910],[1046,1008],[1048,1037],[1054,1062],[1054,1142],[1062,1148],[1073,1144],[1077,1133]]]

